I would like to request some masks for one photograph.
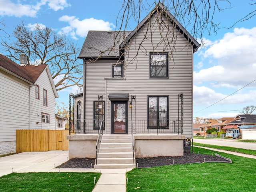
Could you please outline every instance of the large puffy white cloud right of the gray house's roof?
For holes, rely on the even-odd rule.
[[[210,82],[214,86],[242,87],[255,80],[256,27],[235,28],[209,49],[202,50],[202,61],[195,65],[194,83]],[[202,65],[202,63],[204,65]],[[208,63],[208,68],[206,68]],[[256,87],[256,84],[250,86]]]

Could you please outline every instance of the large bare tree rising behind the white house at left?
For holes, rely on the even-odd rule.
[[[74,85],[82,88],[82,63],[77,59],[79,49],[66,36],[39,24],[30,29],[24,22],[15,28],[13,35],[16,40],[0,42],[8,57],[19,60],[19,55],[24,53],[28,64],[48,64],[57,91]]]

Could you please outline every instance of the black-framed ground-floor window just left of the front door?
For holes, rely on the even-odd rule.
[[[105,120],[105,101],[94,101],[94,128],[99,129],[102,120]],[[102,128],[105,128],[104,122]]]

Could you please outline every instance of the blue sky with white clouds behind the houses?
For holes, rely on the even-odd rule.
[[[119,27],[116,18],[122,2],[0,0],[0,21],[6,25],[5,31],[9,34],[22,20],[30,27],[39,23],[65,33],[82,47],[88,30]],[[152,9],[153,2],[147,0],[148,7],[143,9],[141,18],[148,14],[147,8]],[[206,44],[194,54],[194,117],[234,117],[241,108],[256,105],[256,81],[253,82],[256,80],[256,16],[225,28],[256,10],[254,3],[255,0],[232,1],[232,8],[215,14],[214,20],[220,24],[218,32],[211,35],[204,32]],[[230,7],[229,4],[222,6]],[[127,29],[135,27],[136,22],[131,18]],[[2,31],[0,38],[4,38]],[[60,98],[57,100],[68,105],[68,94],[76,93],[76,90],[73,87],[58,92]]]

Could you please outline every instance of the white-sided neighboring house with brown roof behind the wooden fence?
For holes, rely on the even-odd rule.
[[[18,65],[0,54],[0,154],[16,151],[17,129],[55,129],[58,93],[50,69],[26,65],[25,57]]]

